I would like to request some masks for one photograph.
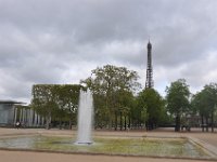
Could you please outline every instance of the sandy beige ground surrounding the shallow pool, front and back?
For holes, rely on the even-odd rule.
[[[14,135],[30,134],[50,134],[68,136],[75,135],[75,131],[68,130],[42,130],[42,129],[0,129],[0,137]],[[171,129],[157,129],[152,132],[145,131],[94,131],[95,136],[117,136],[117,137],[189,137],[199,141],[206,149],[217,154],[217,133],[202,133],[199,129],[191,132],[175,133]],[[143,157],[117,157],[117,156],[91,156],[91,154],[66,154],[66,153],[48,153],[33,151],[11,151],[0,150],[0,162],[207,162],[207,160],[191,159],[167,159],[167,158],[143,158]]]

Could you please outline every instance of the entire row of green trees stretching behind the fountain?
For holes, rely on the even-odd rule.
[[[79,90],[88,87],[93,93],[95,129],[145,126],[152,130],[159,124],[175,123],[175,130],[180,131],[187,117],[195,114],[201,116],[202,124],[210,123],[214,129],[216,84],[205,85],[204,90],[191,95],[186,80],[180,79],[166,87],[164,98],[154,89],[139,92],[138,79],[136,71],[106,65],[92,70],[81,85],[34,85],[31,107],[47,118],[47,127],[51,118],[60,123],[68,121],[69,126],[76,125]]]

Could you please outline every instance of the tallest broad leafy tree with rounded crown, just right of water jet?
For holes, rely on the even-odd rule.
[[[123,103],[123,94],[130,97],[140,87],[138,78],[136,71],[106,65],[92,70],[91,77],[81,81],[93,92],[97,124],[104,123],[108,127],[114,125],[117,130],[118,117],[122,122],[122,116],[128,114],[126,110],[129,109]]]

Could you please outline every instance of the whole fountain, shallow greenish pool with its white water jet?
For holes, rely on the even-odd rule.
[[[103,137],[98,136],[91,145],[91,130],[93,122],[93,104],[92,93],[80,91],[79,107],[78,107],[78,134],[75,145],[72,145],[75,139],[72,136],[48,136],[41,132],[39,135],[27,136],[25,132],[21,135],[10,135],[10,137],[0,138],[0,149],[7,150],[26,150],[26,151],[48,151],[48,152],[66,152],[66,153],[91,153],[91,154],[107,154],[107,156],[132,156],[132,157],[155,157],[169,159],[195,159],[195,160],[217,160],[215,152],[203,147],[203,144],[197,139],[183,137],[167,137],[159,135],[154,136],[129,136],[128,138],[117,136]],[[38,134],[38,133],[37,133]],[[120,133],[122,134],[122,133]],[[124,135],[124,134],[122,134]],[[73,141],[73,143],[72,143]],[[81,145],[81,146],[80,146]],[[166,149],[165,149],[166,148]],[[181,161],[181,160],[180,160]]]

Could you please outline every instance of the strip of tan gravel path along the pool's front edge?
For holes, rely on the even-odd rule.
[[[110,156],[80,156],[46,152],[23,152],[0,150],[0,162],[196,162],[182,159],[156,159]],[[207,162],[207,161],[197,161]]]

